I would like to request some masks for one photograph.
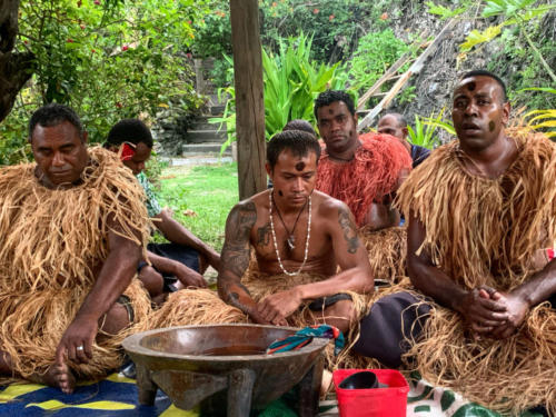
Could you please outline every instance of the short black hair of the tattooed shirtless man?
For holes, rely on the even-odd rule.
[[[271,169],[278,161],[278,156],[289,149],[296,157],[305,157],[309,152],[315,152],[320,158],[320,145],[314,135],[304,130],[285,130],[276,133],[267,146],[267,161]]]

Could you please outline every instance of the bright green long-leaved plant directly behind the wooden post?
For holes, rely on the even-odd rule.
[[[311,38],[300,34],[297,38],[280,40],[278,53],[262,50],[265,83],[265,131],[270,139],[292,119],[305,119],[316,125],[312,115],[315,98],[319,92],[330,89],[345,89],[347,71],[339,63],[327,66],[310,58]],[[221,118],[210,119],[214,123],[226,122],[228,140],[222,151],[236,140],[235,89],[228,87],[219,93],[228,93],[229,100]]]

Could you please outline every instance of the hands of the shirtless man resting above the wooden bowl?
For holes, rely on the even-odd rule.
[[[301,295],[296,288],[280,291],[265,297],[257,304],[257,311],[254,316],[260,324],[288,326],[286,320],[295,312],[302,302]]]

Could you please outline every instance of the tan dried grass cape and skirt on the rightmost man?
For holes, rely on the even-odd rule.
[[[510,291],[538,269],[535,255],[556,238],[556,146],[540,133],[507,133],[518,156],[498,178],[469,173],[454,141],[399,191],[403,211],[426,228],[421,249],[464,288]],[[556,415],[556,310],[548,302],[534,307],[508,339],[477,341],[466,337],[457,312],[431,306],[424,337],[406,355],[424,378],[497,410],[544,404]]]

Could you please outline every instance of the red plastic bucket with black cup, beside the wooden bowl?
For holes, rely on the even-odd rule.
[[[380,384],[388,388],[341,389],[338,386],[351,374],[361,370],[375,373]],[[406,378],[394,369],[338,369],[332,374],[336,398],[341,417],[406,417]]]

